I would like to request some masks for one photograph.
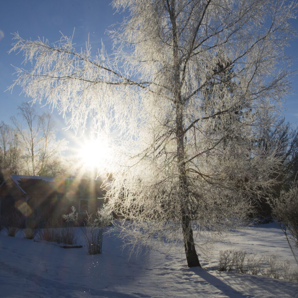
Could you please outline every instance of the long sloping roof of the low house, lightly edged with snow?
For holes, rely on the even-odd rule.
[[[44,176],[9,175],[0,185],[13,184],[23,195],[102,196],[103,181]]]

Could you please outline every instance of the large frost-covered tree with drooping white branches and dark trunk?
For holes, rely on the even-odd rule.
[[[75,129],[91,115],[97,131],[113,131],[119,166],[107,196],[130,219],[126,239],[182,239],[188,266],[200,266],[198,236],[239,224],[247,198],[272,183],[268,171],[278,159],[257,139],[290,89],[283,49],[297,4],[112,3],[129,12],[110,31],[112,54],[102,47],[91,55],[89,43],[76,50],[65,35],[51,45],[16,33],[11,51],[29,67],[16,68],[13,86],[70,114]]]

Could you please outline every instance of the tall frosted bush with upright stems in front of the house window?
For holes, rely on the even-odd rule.
[[[72,212],[67,215],[63,215],[66,222],[73,221],[78,224],[78,213],[75,207],[72,207]],[[103,230],[105,226],[111,223],[111,211],[107,208],[98,209],[95,218],[92,214],[87,214],[85,218],[84,226],[82,229],[88,254],[101,254],[103,245]]]

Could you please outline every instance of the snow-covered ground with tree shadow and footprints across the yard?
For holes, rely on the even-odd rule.
[[[294,263],[277,226],[242,229],[231,233],[229,241],[215,243],[208,256],[200,257],[202,269],[187,268],[184,254],[175,250],[152,252],[147,260],[133,256],[128,261],[116,235],[105,236],[103,253],[91,256],[84,248],[63,249],[57,243],[34,242],[21,233],[9,237],[2,231],[0,297],[298,297],[298,282],[215,268],[219,250],[231,248],[278,254]]]

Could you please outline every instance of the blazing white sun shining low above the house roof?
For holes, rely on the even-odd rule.
[[[111,167],[113,149],[104,138],[85,139],[80,145],[78,157],[84,167],[104,170]]]

